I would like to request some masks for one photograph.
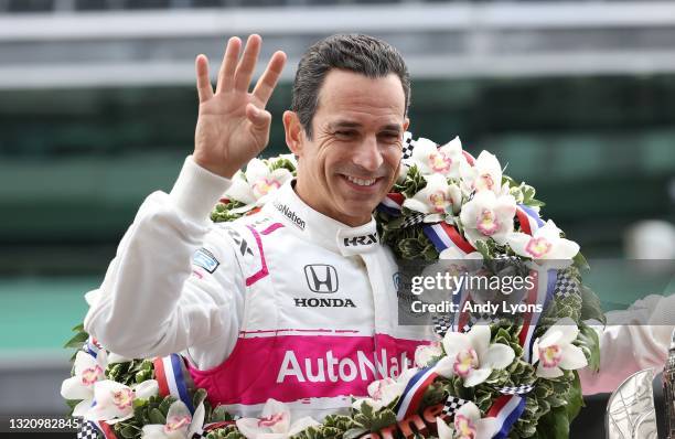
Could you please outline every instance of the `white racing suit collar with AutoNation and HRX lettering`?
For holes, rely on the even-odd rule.
[[[294,234],[342,256],[369,253],[379,245],[375,218],[350,227],[307,205],[293,190],[293,183],[283,184],[264,210],[272,212]]]

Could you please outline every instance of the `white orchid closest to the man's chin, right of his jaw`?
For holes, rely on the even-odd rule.
[[[462,192],[457,184],[448,184],[441,174],[425,175],[425,180],[427,185],[411,199],[406,199],[404,207],[427,214],[427,223],[438,223],[444,220],[446,214],[460,211]]]

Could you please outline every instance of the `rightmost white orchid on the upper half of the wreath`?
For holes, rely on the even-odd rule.
[[[560,237],[560,229],[548,220],[533,236],[512,233],[506,238],[516,255],[533,258],[551,268],[566,268],[579,253],[579,244]]]

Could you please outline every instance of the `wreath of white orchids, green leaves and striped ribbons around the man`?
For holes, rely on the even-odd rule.
[[[180,355],[122,358],[81,324],[66,343],[77,352],[61,393],[73,416],[87,420],[85,432],[107,439],[567,438],[583,405],[576,371],[599,368],[599,341],[585,321],[604,322],[598,298],[581,282],[588,266],[579,246],[540,218],[544,203],[535,189],[503,174],[490,152],[474,158],[459,138],[438,146],[406,132],[404,140],[397,182],[375,212],[382,240],[403,260],[480,260],[497,276],[505,261],[538,268],[544,287],[516,301],[543,312],[522,319],[433,315],[438,341],[417,349],[415,367],[373,382],[368,397],[353,400],[351,415],[321,424],[291,422],[288,408],[274,399],[260,419],[237,419],[211,407]],[[235,174],[212,220],[256,212],[296,167],[292,156],[253,159]],[[476,297],[464,289],[452,300]],[[485,318],[489,324],[476,324]]]

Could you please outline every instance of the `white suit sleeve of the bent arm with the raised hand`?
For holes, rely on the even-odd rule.
[[[201,368],[232,352],[245,287],[232,240],[208,218],[229,184],[189,157],[170,194],[146,199],[85,318],[106,349],[127,357],[186,351]]]

